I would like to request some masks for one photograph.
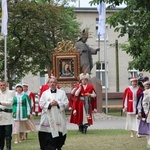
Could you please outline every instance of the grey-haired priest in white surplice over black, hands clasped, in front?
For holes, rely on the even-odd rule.
[[[65,109],[68,106],[66,93],[57,89],[55,77],[49,79],[50,88],[40,98],[42,108],[39,125],[39,143],[41,150],[61,150],[66,140]]]

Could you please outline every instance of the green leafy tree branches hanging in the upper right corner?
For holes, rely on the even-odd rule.
[[[149,0],[91,0],[90,4],[100,2],[110,4],[108,9],[113,9],[119,4],[126,7],[111,15],[107,22],[119,32],[119,36],[129,34],[126,44],[122,49],[133,57],[130,68],[140,71],[150,71],[150,2]]]

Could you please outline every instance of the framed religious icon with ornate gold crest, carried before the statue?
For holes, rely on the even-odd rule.
[[[71,41],[61,41],[53,52],[53,74],[58,82],[72,84],[80,74],[80,53]]]

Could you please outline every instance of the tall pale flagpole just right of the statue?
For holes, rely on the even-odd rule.
[[[104,15],[105,15],[105,21],[106,21],[106,7],[104,4]],[[105,22],[104,21],[104,22]],[[104,27],[104,60],[105,60],[105,102],[106,102],[106,114],[108,114],[108,91],[107,91],[107,85],[108,85],[108,74],[107,74],[107,45],[106,45],[106,23]]]

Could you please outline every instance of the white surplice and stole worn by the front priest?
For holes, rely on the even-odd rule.
[[[48,109],[53,100],[57,101],[59,107],[52,106]],[[53,138],[59,136],[58,132],[65,135],[67,133],[65,109],[68,106],[66,93],[61,89],[57,89],[56,93],[51,93],[48,89],[43,92],[39,104],[42,108],[39,131],[49,132]]]

